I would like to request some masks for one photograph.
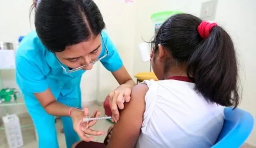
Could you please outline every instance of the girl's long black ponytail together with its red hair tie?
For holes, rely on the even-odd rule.
[[[204,24],[202,22],[200,25]],[[239,104],[238,65],[232,39],[216,24],[201,30],[200,45],[188,59],[187,74],[196,84],[196,90],[211,102],[222,106]],[[207,25],[206,25],[207,26]],[[206,29],[206,30],[205,30]],[[204,35],[206,33],[206,36]]]

